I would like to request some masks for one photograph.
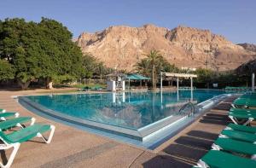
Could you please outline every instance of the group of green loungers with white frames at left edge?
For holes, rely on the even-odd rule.
[[[6,112],[6,110],[0,109],[0,139],[3,141],[0,150],[14,148],[8,162],[5,165],[0,163],[1,167],[8,168],[12,165],[22,142],[31,140],[36,136],[41,137],[45,143],[51,142],[55,126],[35,124],[35,121],[36,119],[32,117],[20,117],[19,113]],[[50,131],[49,137],[45,138],[43,134],[48,131]]]

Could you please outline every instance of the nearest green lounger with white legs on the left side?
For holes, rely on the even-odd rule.
[[[49,138],[45,139],[42,134],[49,131]],[[44,142],[50,143],[52,140],[52,137],[55,132],[55,126],[54,125],[40,125],[35,124],[28,126],[24,129],[14,131],[8,135],[4,134],[3,131],[0,131],[0,139],[3,141],[3,145],[0,146],[0,150],[7,150],[9,148],[14,148],[13,152],[10,154],[9,160],[6,163],[6,165],[3,165],[3,163],[0,163],[1,167],[8,168],[10,165],[12,165],[15,155],[18,152],[18,149],[20,148],[21,142],[26,142],[30,139],[32,139],[35,136],[42,137]]]

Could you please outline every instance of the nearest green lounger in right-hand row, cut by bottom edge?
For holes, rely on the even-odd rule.
[[[256,161],[253,159],[241,158],[239,156],[224,153],[218,150],[210,150],[204,155],[195,167],[201,168],[255,168]]]

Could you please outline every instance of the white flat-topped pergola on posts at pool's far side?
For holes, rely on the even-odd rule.
[[[160,72],[160,90],[163,90],[163,78],[172,77],[177,78],[177,90],[178,90],[178,78],[190,78],[190,88],[193,90],[193,78],[197,78],[197,75],[191,73],[175,73],[175,72]]]

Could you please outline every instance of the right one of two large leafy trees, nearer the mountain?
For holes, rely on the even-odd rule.
[[[82,52],[72,42],[72,33],[56,20],[42,18],[38,24],[41,28],[41,42],[44,47],[44,67],[41,67],[41,78],[45,78],[46,88],[53,81],[73,80],[84,74]],[[49,68],[50,67],[50,68]]]

